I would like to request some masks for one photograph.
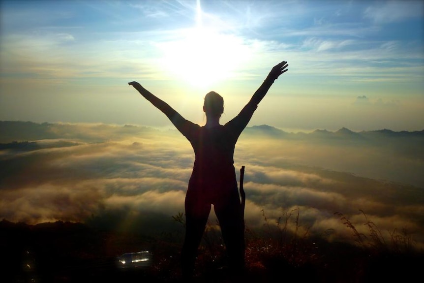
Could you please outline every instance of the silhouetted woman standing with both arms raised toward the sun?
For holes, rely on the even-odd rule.
[[[199,126],[185,120],[139,83],[128,83],[171,120],[194,150],[193,172],[185,196],[186,230],[182,247],[184,278],[192,276],[197,249],[212,204],[229,255],[230,268],[236,273],[244,268],[244,223],[234,168],[234,148],[258,103],[274,80],[287,71],[287,66],[286,61],[275,65],[239,115],[225,125],[219,124],[224,100],[215,92],[205,96],[203,111],[206,113],[206,125]]]

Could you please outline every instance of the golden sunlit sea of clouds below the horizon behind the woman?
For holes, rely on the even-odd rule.
[[[174,227],[171,216],[183,211],[194,158],[180,133],[139,126],[2,122],[2,136],[12,139],[7,129],[23,125],[27,136],[21,132],[15,140],[30,142],[1,140],[0,218],[101,220],[146,232]],[[385,236],[406,229],[423,243],[423,186],[391,182],[410,178],[409,184],[423,184],[421,175],[411,177],[424,168],[423,137],[420,132],[416,138],[411,133],[391,137],[399,134],[362,133],[368,137],[364,141],[347,129],[289,134],[268,126],[247,128],[235,153],[236,169],[246,166],[246,224],[261,227],[263,212],[271,224],[299,212],[303,232],[319,235],[333,229],[330,238],[352,239],[334,213],[349,217],[367,234],[362,210]]]

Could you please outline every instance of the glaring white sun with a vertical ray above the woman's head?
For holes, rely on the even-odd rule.
[[[161,45],[166,69],[194,86],[209,87],[227,79],[248,54],[241,38],[203,27],[198,4],[195,28]]]

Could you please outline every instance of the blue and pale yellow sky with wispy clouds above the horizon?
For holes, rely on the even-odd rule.
[[[249,126],[424,128],[424,4],[406,1],[0,2],[0,120],[171,128],[138,81],[203,125],[231,120],[283,60]]]

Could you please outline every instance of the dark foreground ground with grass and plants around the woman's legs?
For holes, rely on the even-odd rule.
[[[364,215],[369,234],[336,213],[340,224],[352,231],[355,244],[328,242],[299,233],[299,210],[270,223],[263,211],[261,229],[246,227],[244,282],[381,282],[408,281],[419,276],[424,252],[412,239],[394,231],[385,239]],[[173,217],[184,225],[182,213]],[[225,249],[217,223],[209,223],[199,249],[195,282],[230,282]],[[1,282],[100,282],[137,280],[178,282],[181,235],[146,236],[100,230],[82,223],[58,221],[27,225],[0,222]],[[121,269],[117,256],[149,250],[146,268]],[[240,280],[240,279],[239,279]]]

